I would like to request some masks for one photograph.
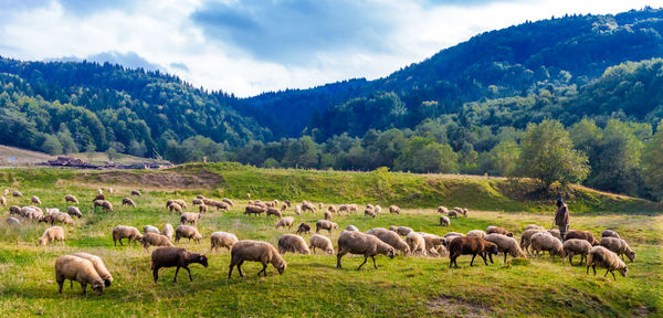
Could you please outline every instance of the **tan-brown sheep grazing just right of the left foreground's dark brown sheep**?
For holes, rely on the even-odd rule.
[[[228,271],[229,279],[232,277],[232,268],[234,266],[238,266],[240,276],[244,277],[241,266],[245,261],[261,262],[263,268],[257,272],[257,276],[260,276],[260,273],[264,273],[265,277],[267,276],[267,264],[272,264],[272,266],[278,271],[278,274],[283,274],[287,266],[283,257],[278,254],[278,251],[267,242],[243,240],[232,246],[230,254],[230,271]]]

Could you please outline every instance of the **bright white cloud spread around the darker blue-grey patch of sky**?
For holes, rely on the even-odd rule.
[[[85,57],[104,52],[135,52],[193,85],[249,96],[287,87],[306,88],[351,77],[386,76],[480,32],[525,20],[548,19],[565,13],[617,13],[648,4],[663,6],[663,1],[642,0],[471,1],[469,6],[462,4],[465,1],[367,1],[370,6],[362,8],[373,11],[370,21],[387,21],[393,26],[370,29],[375,34],[371,36],[376,39],[365,41],[371,42],[366,45],[361,45],[362,38],[357,38],[360,41],[349,45],[343,39],[338,40],[343,34],[333,36],[339,41],[338,46],[325,45],[313,54],[303,52],[309,60],[301,63],[296,59],[282,63],[255,57],[255,54],[248,54],[232,41],[210,39],[209,32],[191,19],[193,12],[204,8],[207,1],[203,0],[124,1],[123,6],[114,8],[107,4],[94,7],[94,3],[103,3],[94,1],[84,12],[67,10],[73,2],[71,0],[66,1],[66,6],[56,0],[46,4],[30,2],[31,6],[15,6],[13,11],[3,7],[4,12],[0,13],[0,55],[44,60],[72,55]],[[225,1],[229,6],[240,2]],[[334,30],[333,24],[326,28]],[[361,28],[361,23],[355,23],[352,28]],[[383,30],[383,34],[376,34],[380,30]],[[311,36],[312,33],[307,34]],[[287,43],[287,39],[284,41]],[[383,44],[381,50],[371,50],[370,45],[379,45],[376,43]],[[299,43],[297,50],[309,47]],[[181,67],[182,63],[186,67]]]

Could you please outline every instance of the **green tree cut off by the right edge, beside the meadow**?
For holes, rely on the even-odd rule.
[[[650,189],[651,195],[663,200],[663,121],[659,124],[659,131],[650,139],[644,148],[643,168],[644,184]]]

